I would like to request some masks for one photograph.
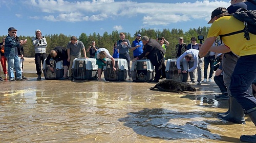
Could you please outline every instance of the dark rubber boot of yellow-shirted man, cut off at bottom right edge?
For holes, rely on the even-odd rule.
[[[248,116],[251,118],[251,121],[256,126],[256,111],[254,110],[253,112],[248,113]],[[240,136],[240,141],[243,141],[243,142],[256,142],[256,134],[254,134],[254,135],[241,135]]]

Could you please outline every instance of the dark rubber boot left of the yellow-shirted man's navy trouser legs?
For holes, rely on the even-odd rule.
[[[219,115],[218,118],[221,118],[223,120],[233,122],[233,123],[245,124],[244,109],[234,97],[229,96],[229,99],[230,99],[230,112],[227,115]]]

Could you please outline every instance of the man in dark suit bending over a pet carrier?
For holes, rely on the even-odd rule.
[[[164,49],[163,47],[154,39],[148,38],[147,36],[142,37],[142,43],[144,45],[144,51],[133,61],[142,59],[146,57],[151,61],[153,66],[155,66],[156,74],[152,82],[158,82],[161,76],[161,70],[165,76],[165,64],[164,64]]]

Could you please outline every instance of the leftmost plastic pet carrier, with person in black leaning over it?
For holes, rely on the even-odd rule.
[[[46,65],[46,59],[42,66],[42,71],[44,72],[45,79],[59,79],[64,75],[64,68],[62,65],[62,61],[58,61],[57,63],[52,58],[50,59],[50,67],[54,69],[52,72],[48,65]]]

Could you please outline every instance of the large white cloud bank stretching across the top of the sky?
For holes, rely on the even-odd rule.
[[[220,0],[197,1],[195,3],[139,3],[114,0],[65,1],[27,0],[28,6],[45,12],[50,21],[104,21],[116,17],[141,17],[146,25],[168,25],[170,23],[210,19],[211,11],[217,7],[228,7],[230,3]]]

